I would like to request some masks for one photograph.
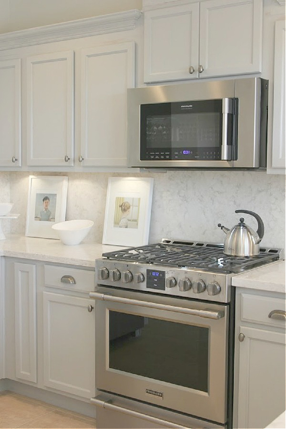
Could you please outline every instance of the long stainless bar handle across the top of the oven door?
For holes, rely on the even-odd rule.
[[[175,307],[174,305],[158,304],[157,302],[139,301],[138,299],[122,298],[120,296],[105,295],[104,293],[90,292],[90,298],[101,301],[120,302],[122,304],[138,305],[140,307],[155,308],[157,310],[175,311],[176,313],[192,314],[193,316],[206,317],[207,319],[221,319],[224,311],[195,310],[193,308]]]

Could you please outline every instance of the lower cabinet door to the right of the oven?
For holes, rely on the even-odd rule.
[[[264,428],[285,411],[285,332],[240,332],[238,428]]]

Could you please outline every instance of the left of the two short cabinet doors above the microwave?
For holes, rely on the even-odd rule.
[[[198,78],[199,3],[144,14],[144,82]]]

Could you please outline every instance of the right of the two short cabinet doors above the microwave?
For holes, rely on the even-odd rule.
[[[201,77],[261,72],[262,7],[261,0],[200,3]]]

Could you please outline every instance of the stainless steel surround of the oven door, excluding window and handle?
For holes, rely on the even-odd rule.
[[[103,294],[121,296],[127,299],[144,300],[146,295],[125,290],[111,290],[98,287],[97,291]],[[172,298],[171,296],[152,296],[154,302],[165,305],[192,307],[204,310],[206,306],[212,311],[221,311],[225,317],[221,319],[205,319],[192,314],[182,314],[164,309],[146,308],[143,305],[131,303],[96,300],[96,384],[100,390],[132,397],[139,401],[153,405],[175,409],[179,412],[196,415],[200,418],[213,420],[225,424],[226,422],[226,383],[228,368],[228,321],[229,308],[227,305],[197,302]],[[209,329],[209,381],[208,392],[181,387],[176,384],[156,381],[153,378],[143,377],[116,369],[109,369],[108,357],[108,312],[135,314],[142,317],[159,318],[176,323],[201,326]],[[175,353],[175,351],[174,351]],[[174,357],[174,365],[176,359]],[[162,397],[147,395],[147,390],[162,392]]]

